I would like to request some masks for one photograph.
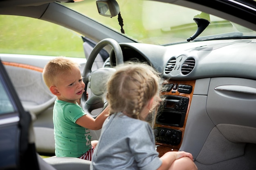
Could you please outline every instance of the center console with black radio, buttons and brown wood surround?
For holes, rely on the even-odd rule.
[[[154,129],[157,151],[161,150],[162,154],[180,148],[194,86],[195,81],[168,81],[163,84],[163,101],[157,111]]]

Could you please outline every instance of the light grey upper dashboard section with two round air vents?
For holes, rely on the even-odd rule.
[[[163,78],[195,80],[209,77],[240,77],[256,80],[252,74],[256,58],[255,39],[211,40],[158,46],[121,43],[125,61],[152,65]],[[111,52],[112,66],[115,53]]]

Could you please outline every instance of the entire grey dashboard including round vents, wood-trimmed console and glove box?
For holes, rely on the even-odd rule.
[[[154,123],[159,156],[171,150],[186,150],[198,161],[205,161],[209,152],[205,142],[220,148],[214,150],[216,155],[223,154],[225,139],[256,144],[256,138],[247,137],[256,132],[255,43],[255,39],[229,39],[171,46],[120,44],[124,62],[148,63],[163,79],[164,101]],[[112,63],[108,64],[113,67],[113,51],[110,58],[108,62]],[[221,160],[214,155],[209,157],[209,163],[230,159],[228,155]]]

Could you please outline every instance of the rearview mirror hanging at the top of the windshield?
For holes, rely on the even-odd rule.
[[[105,17],[115,17],[120,13],[116,0],[96,0],[96,4],[99,14]]]

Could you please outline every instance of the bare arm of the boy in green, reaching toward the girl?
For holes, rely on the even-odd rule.
[[[91,130],[99,130],[102,128],[103,122],[109,116],[109,106],[107,106],[98,116],[96,119],[92,118],[89,115],[84,115],[78,120],[76,120],[76,124],[83,126],[87,129]]]

